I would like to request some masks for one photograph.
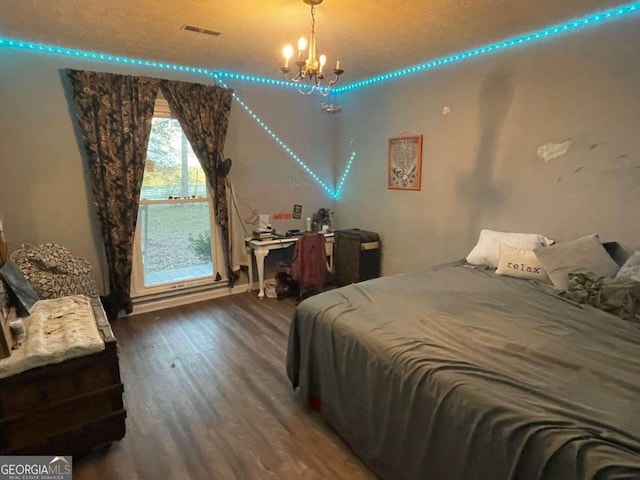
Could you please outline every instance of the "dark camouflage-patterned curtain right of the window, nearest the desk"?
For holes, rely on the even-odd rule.
[[[216,221],[222,231],[229,285],[233,286],[239,272],[231,267],[229,255],[229,207],[225,184],[231,159],[225,160],[223,154],[233,90],[171,80],[162,80],[160,89],[207,176]]]

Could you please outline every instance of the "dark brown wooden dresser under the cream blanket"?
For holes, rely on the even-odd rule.
[[[118,349],[92,300],[101,352],[0,379],[0,455],[76,455],[125,434]]]

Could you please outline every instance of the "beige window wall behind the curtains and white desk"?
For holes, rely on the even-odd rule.
[[[104,282],[102,248],[87,171],[67,101],[64,68],[148,75],[206,83],[206,77],[82,62],[73,58],[0,48],[0,215],[9,248],[55,242],[94,265]],[[234,85],[240,98],[318,174],[333,184],[332,119],[319,100],[289,90]],[[315,102],[315,103],[313,103]],[[236,191],[260,213],[303,216],[335,208],[329,197],[257,123],[234,103],[225,154],[234,161]],[[247,208],[245,212],[248,213]],[[299,221],[274,221],[278,230]],[[248,231],[253,228],[247,225]],[[277,258],[272,257],[269,263]],[[246,280],[241,280],[246,281]]]

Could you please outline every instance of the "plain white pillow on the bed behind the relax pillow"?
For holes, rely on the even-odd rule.
[[[478,243],[467,255],[467,263],[496,268],[498,266],[501,243],[516,248],[535,250],[536,248],[551,245],[553,240],[535,233],[507,233],[485,229],[480,232]]]

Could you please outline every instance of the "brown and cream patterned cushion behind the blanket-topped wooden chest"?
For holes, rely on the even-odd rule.
[[[26,245],[11,254],[41,299],[82,294],[97,297],[91,264],[61,245]]]

